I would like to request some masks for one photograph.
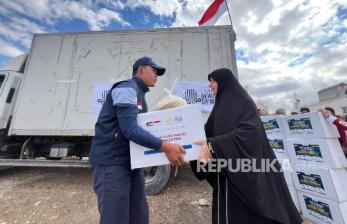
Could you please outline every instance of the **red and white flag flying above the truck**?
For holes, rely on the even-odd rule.
[[[228,7],[225,0],[214,0],[201,17],[199,26],[213,26],[227,9]]]

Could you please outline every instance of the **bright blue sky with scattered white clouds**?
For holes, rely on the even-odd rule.
[[[0,0],[0,69],[33,33],[188,27],[213,0]],[[228,0],[240,83],[273,112],[347,83],[346,0]],[[216,25],[229,25],[227,13]]]

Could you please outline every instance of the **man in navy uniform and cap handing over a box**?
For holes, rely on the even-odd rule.
[[[142,57],[133,65],[132,79],[115,83],[95,125],[89,155],[101,224],[147,224],[148,205],[142,169],[130,169],[129,140],[163,151],[172,165],[184,165],[181,145],[163,142],[137,124],[147,112],[145,93],[165,68]]]

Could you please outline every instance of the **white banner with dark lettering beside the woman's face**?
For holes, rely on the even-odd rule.
[[[208,82],[177,82],[174,94],[188,104],[200,105],[202,112],[211,112],[215,102]]]

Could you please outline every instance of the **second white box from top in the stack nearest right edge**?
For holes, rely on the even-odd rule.
[[[292,163],[310,162],[326,168],[347,167],[338,139],[286,139],[285,148]]]

